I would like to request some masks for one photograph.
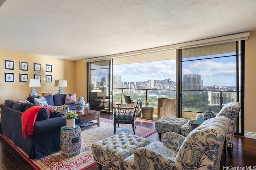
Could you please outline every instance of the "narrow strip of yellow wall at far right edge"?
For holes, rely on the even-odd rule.
[[[256,85],[256,31],[250,32],[245,41],[245,92],[244,114],[245,132],[256,133],[255,85]]]

